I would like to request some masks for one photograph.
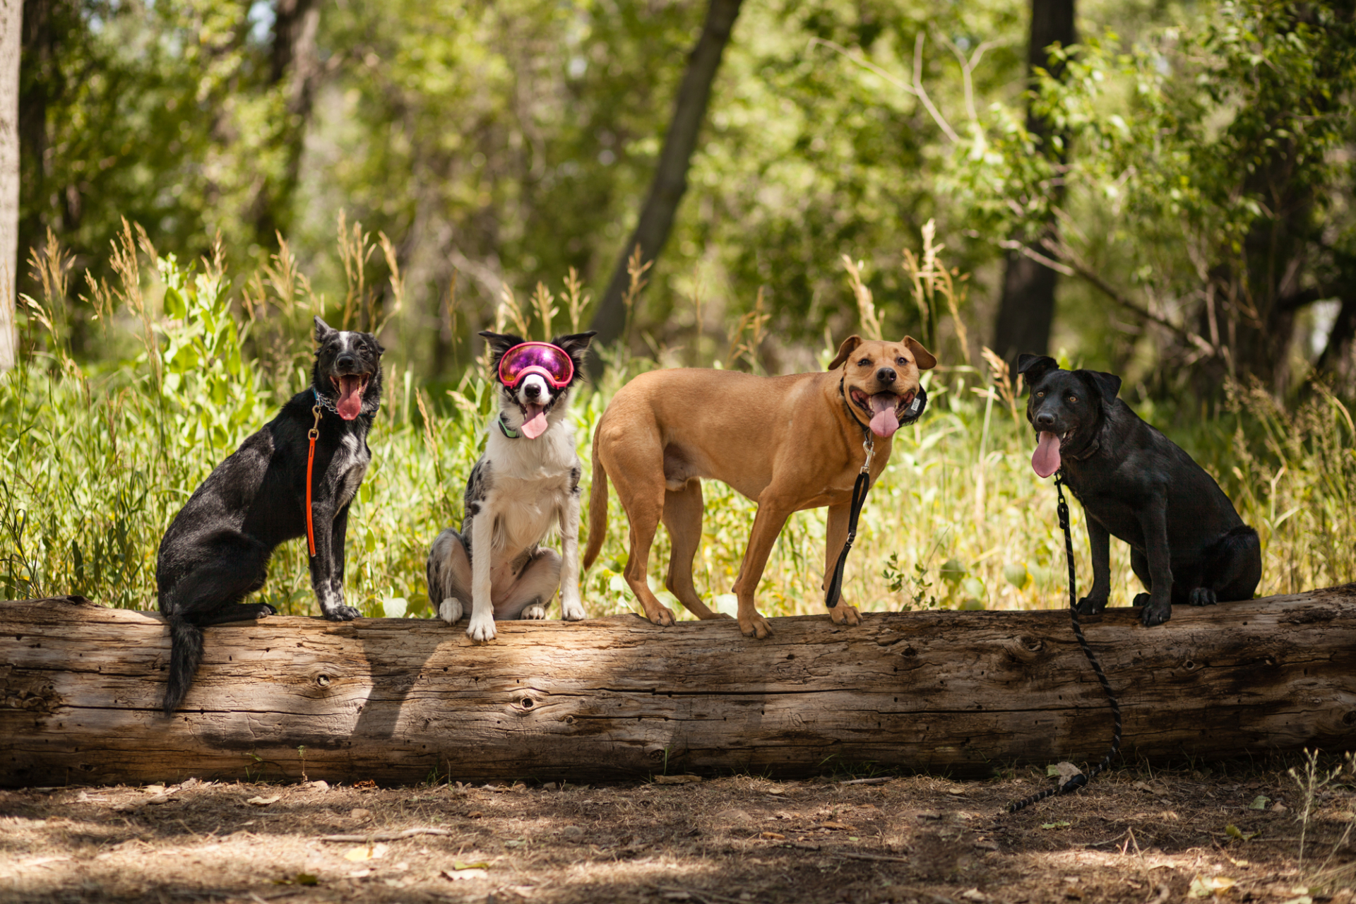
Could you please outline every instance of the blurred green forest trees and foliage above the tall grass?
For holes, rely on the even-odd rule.
[[[26,0],[20,258],[47,230],[73,252],[71,342],[99,356],[84,274],[110,274],[123,218],[183,260],[220,234],[240,274],[281,236],[334,309],[344,217],[393,245],[391,363],[454,381],[503,287],[574,268],[603,295],[721,5],[636,352],[724,358],[761,297],[761,366],[812,366],[856,328],[846,253],[887,332],[942,361],[1045,351],[1050,314],[1020,293],[997,335],[1028,262],[1058,298],[1048,348],[1144,392],[1351,384],[1356,26],[1322,3],[1083,0],[1074,31],[1071,0],[1036,0],[1069,18],[1044,31],[1079,42],[1064,64],[1032,47],[1028,0]],[[956,320],[910,301],[902,255],[929,220],[970,276]]]

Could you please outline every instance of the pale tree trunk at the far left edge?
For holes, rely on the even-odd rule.
[[[19,52],[23,0],[0,0],[0,370],[15,365],[19,276]]]

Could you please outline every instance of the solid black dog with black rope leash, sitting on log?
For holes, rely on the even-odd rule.
[[[1130,565],[1150,592],[1135,596],[1144,626],[1173,604],[1252,599],[1262,576],[1261,542],[1219,484],[1191,455],[1116,398],[1120,377],[1060,370],[1054,358],[1021,355],[1031,388],[1026,420],[1039,434],[1032,468],[1063,469],[1083,504],[1093,587],[1079,613],[1100,613],[1111,592],[1111,535],[1130,543]]]

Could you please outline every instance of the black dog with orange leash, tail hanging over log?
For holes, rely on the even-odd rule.
[[[372,333],[331,329],[320,317],[316,342],[311,388],[217,465],[160,541],[156,583],[171,644],[167,716],[183,701],[202,661],[203,628],[275,614],[267,603],[240,600],[263,587],[278,543],[308,535],[312,428],[317,436],[311,585],[325,618],[358,617],[357,609],[343,603],[343,543],[348,503],[372,461],[367,431],[381,404],[384,350]]]

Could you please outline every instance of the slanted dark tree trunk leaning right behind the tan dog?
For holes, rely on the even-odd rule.
[[[593,329],[598,331],[597,343],[616,342],[626,327],[624,298],[629,286],[626,259],[640,247],[641,260],[652,262],[669,241],[678,203],[687,191],[687,167],[692,152],[697,146],[701,123],[706,118],[706,104],[711,100],[711,84],[720,68],[720,57],[730,43],[730,33],[735,27],[742,0],[711,0],[706,8],[706,23],[701,38],[687,57],[687,70],[683,73],[674,102],[674,114],[664,136],[664,146],[659,153],[659,168],[655,171],[650,194],[640,209],[640,220],[635,232],[626,240],[617,256],[617,267],[612,282],[594,312]],[[599,361],[595,355],[593,361]]]

